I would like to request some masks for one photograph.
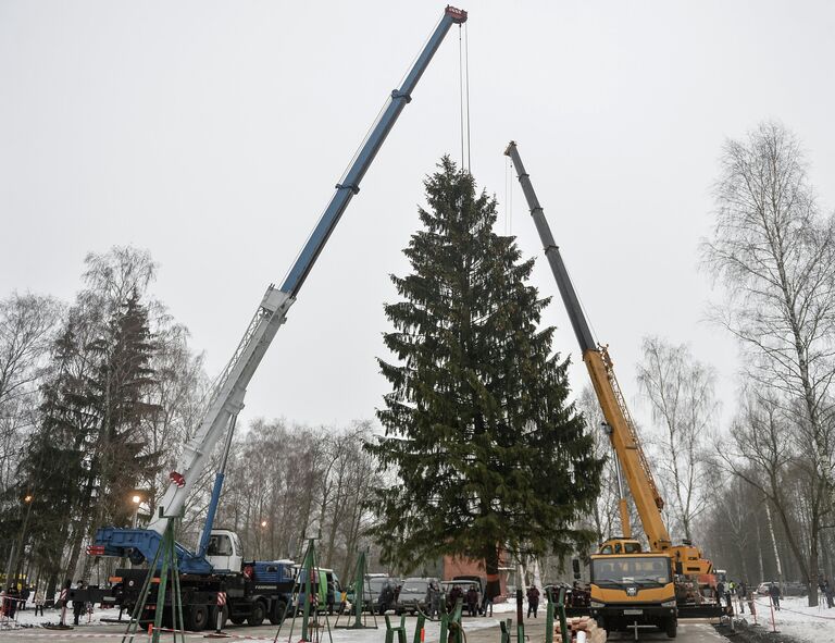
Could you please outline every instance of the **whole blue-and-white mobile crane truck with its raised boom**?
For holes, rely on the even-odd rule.
[[[214,447],[225,433],[226,441],[221,466],[215,475],[198,547],[191,552],[182,544],[176,545],[179,584],[185,606],[184,618],[189,629],[199,630],[210,622],[212,610],[216,610],[220,592],[226,592],[226,606],[233,622],[242,622],[247,619],[250,625],[260,625],[265,617],[272,621],[281,618],[278,607],[286,605],[288,595],[287,578],[279,569],[281,562],[245,564],[237,536],[232,532],[212,529],[235,422],[244,408],[244,398],[250,380],[276,332],[286,321],[289,308],[296,301],[327,239],[351,199],[359,194],[363,176],[403,108],[411,102],[413,90],[447,33],[452,25],[464,23],[466,17],[465,11],[454,7],[447,5],[444,10],[438,24],[403,77],[400,87],[391,91],[387,104],[381,111],[344,177],[336,185],[336,191],[281,287],[276,288],[274,285],[267,287],[232,359],[208,395],[205,412],[195,436],[184,446],[177,469],[169,475],[170,484],[160,500],[159,514],[153,517],[147,529],[101,528],[96,533],[95,544],[88,547],[89,555],[126,557],[134,565],[153,560],[169,521],[182,514],[186,497],[208,466]],[[223,551],[219,547],[222,543],[225,547]],[[270,571],[271,566],[276,569]],[[120,570],[116,578],[121,580],[113,588],[72,590],[71,599],[75,596],[78,601],[96,603],[105,601],[130,608],[137,599],[133,593],[134,588],[141,588],[141,581],[147,573],[149,573],[148,570],[141,569]],[[159,572],[154,570],[153,573]],[[275,577],[272,580],[270,580],[271,573]],[[154,590],[148,603],[153,604],[155,599]],[[282,615],[283,613],[282,609]]]

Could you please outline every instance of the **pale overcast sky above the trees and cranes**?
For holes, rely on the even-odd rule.
[[[445,3],[0,0],[0,297],[72,299],[84,256],[160,262],[154,293],[228,359],[279,282]],[[735,399],[734,344],[703,322],[697,270],[725,137],[781,120],[822,205],[835,175],[835,3],[472,1],[472,170],[501,201],[508,140],[546,209],[627,397],[647,334],[687,342]],[[447,37],[279,331],[246,419],[372,418],[388,391],[383,301],[422,181],[458,154],[458,28]],[[512,233],[540,256],[513,182]],[[557,295],[547,263],[534,275]],[[587,376],[556,297],[556,348]]]

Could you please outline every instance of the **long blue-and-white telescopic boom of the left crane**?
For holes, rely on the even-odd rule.
[[[170,474],[171,483],[160,503],[160,511],[148,524],[148,529],[99,530],[96,537],[97,553],[105,555],[129,555],[133,560],[151,559],[161,542],[167,521],[180,514],[186,497],[191,492],[200,473],[204,470],[214,446],[224,432],[234,428],[235,419],[244,407],[247,386],[270,347],[276,332],[287,319],[287,311],[296,301],[301,286],[310,274],[316,258],[325,247],[328,237],[339,222],[351,199],[360,191],[360,182],[379,151],[400,112],[411,101],[418,82],[426,71],[435,52],[453,24],[466,21],[466,12],[447,7],[415,60],[401,86],[391,91],[388,104],[356,156],[353,162],[336,185],[324,213],[291,265],[281,287],[270,285],[256,310],[244,337],[232,359],[224,368],[208,396],[207,411],[195,437],[185,445],[177,470]],[[227,441],[228,442],[228,441]],[[189,572],[211,571],[211,564],[203,557],[212,528],[212,519],[220,496],[222,472],[215,482],[209,516],[196,554],[178,546],[180,569]]]

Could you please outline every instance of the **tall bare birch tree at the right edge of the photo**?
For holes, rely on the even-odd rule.
[[[819,213],[798,140],[775,123],[725,144],[715,199],[716,224],[702,248],[728,293],[715,317],[739,339],[746,375],[800,412],[793,431],[809,446],[814,483],[803,567],[814,588],[819,530],[832,509],[835,226]],[[809,601],[817,604],[817,592]]]

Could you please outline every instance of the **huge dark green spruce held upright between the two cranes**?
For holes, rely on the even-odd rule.
[[[526,285],[534,260],[493,232],[495,199],[448,157],[425,188],[424,230],[403,250],[412,273],[391,277],[402,300],[385,307],[398,361],[378,360],[392,391],[377,411],[385,436],[366,448],[398,480],[375,493],[373,533],[402,569],[447,554],[483,560],[495,579],[502,552],[590,541],[575,522],[602,461],[566,401],[553,327],[538,329],[548,299]]]

